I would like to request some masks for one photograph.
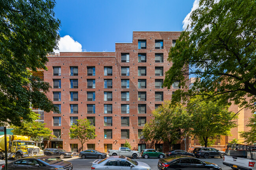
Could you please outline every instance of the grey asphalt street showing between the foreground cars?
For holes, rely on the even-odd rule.
[[[71,157],[71,158],[65,158],[63,160],[71,162],[73,164],[73,170],[90,170],[93,161],[95,161],[96,159],[95,158],[82,159],[82,158],[76,156],[76,157]],[[157,167],[158,158],[144,159],[142,157],[139,157],[135,160],[147,163],[151,167],[152,170],[158,170],[158,167]],[[215,163],[215,164],[221,166],[221,168],[223,170],[232,170],[230,167],[223,165],[223,158],[216,157],[216,158],[201,159],[201,160],[205,161],[205,162]]]

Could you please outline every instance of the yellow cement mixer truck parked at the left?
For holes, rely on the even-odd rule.
[[[0,135],[0,157],[4,157],[4,135]],[[22,157],[43,156],[44,152],[30,136],[7,135],[7,157],[20,159]]]

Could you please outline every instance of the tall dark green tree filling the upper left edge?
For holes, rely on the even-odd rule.
[[[0,122],[32,121],[31,104],[57,111],[45,95],[50,85],[30,72],[47,70],[46,54],[57,48],[54,6],[54,0],[0,0]]]

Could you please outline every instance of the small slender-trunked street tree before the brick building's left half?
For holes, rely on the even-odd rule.
[[[95,127],[90,125],[91,122],[89,120],[78,119],[77,123],[77,125],[71,126],[69,135],[71,139],[79,139],[83,150],[83,144],[89,139],[95,139],[97,135],[95,135]]]

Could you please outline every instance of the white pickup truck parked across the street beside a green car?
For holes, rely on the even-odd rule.
[[[136,159],[139,156],[139,152],[136,150],[130,150],[129,148],[120,147],[119,150],[108,150],[109,156],[126,156]]]

